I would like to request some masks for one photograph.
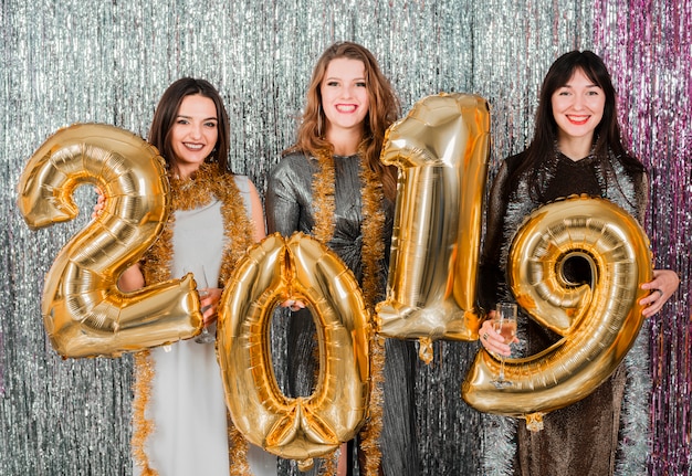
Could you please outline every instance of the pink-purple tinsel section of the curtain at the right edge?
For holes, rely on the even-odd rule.
[[[691,2],[602,0],[594,6],[595,49],[619,93],[623,139],[651,172],[647,231],[656,266],[681,277],[678,294],[650,319],[652,475],[690,470],[691,18]]]

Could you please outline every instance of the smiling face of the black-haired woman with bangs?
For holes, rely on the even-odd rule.
[[[604,117],[604,91],[577,68],[567,84],[553,93],[551,101],[558,144],[580,141],[590,147],[594,130]]]

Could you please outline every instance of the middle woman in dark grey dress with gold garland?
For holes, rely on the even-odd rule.
[[[371,310],[387,282],[396,194],[396,169],[384,166],[379,155],[398,113],[398,99],[373,54],[356,43],[333,44],[314,67],[296,144],[272,170],[266,191],[268,231],[284,236],[300,231],[327,244],[354,272]],[[310,395],[317,370],[315,324],[304,303],[285,305],[293,311],[289,392]],[[378,352],[379,347],[385,349]],[[381,463],[377,451],[360,451],[354,461],[343,457],[352,453],[343,447],[339,475],[358,467],[360,474],[419,474],[415,347],[394,339],[379,347],[374,350],[370,417],[356,443],[360,449],[379,444]],[[378,361],[382,350],[384,366]]]

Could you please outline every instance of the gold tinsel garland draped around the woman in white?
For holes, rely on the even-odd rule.
[[[249,211],[235,184],[234,176],[220,173],[216,163],[200,166],[195,178],[178,179],[169,177],[172,210],[192,210],[211,202],[213,198],[221,202],[221,216],[224,230],[224,247],[219,272],[219,286],[222,287],[231,276],[235,263],[244,255],[254,242],[254,223],[249,218]],[[147,251],[141,263],[145,283],[161,283],[171,279],[170,264],[172,262],[172,230],[174,213],[164,228],[159,239]],[[144,468],[143,475],[156,476],[158,473],[149,466],[145,451],[148,436],[154,431],[154,423],[146,419],[146,409],[151,398],[151,381],[154,380],[154,364],[148,350],[135,355],[135,385],[133,402],[133,457],[138,466]],[[229,427],[229,457],[231,474],[239,474],[238,468],[247,468],[247,443],[242,445],[235,437],[234,429]],[[243,469],[245,470],[245,469]]]

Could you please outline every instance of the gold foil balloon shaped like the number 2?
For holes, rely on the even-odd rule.
[[[45,277],[41,311],[55,351],[117,357],[198,334],[202,318],[191,275],[128,294],[117,287],[169,215],[168,179],[156,148],[107,125],[60,129],[20,176],[18,207],[29,228],[74,220],[72,195],[85,183],[99,187],[107,200]]]

